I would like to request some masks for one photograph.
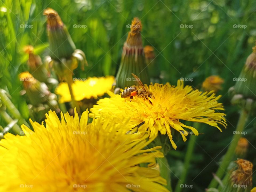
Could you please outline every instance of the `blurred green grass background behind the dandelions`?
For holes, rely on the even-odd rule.
[[[195,157],[187,184],[193,191],[204,191],[212,173],[226,152],[238,119],[238,108],[230,105],[228,89],[235,84],[256,40],[256,1],[169,1],[169,0],[8,0],[0,3],[0,87],[6,89],[25,119],[27,105],[18,74],[27,70],[23,47],[31,44],[40,56],[48,55],[46,18],[43,10],[55,9],[66,24],[76,47],[85,52],[89,67],[79,68],[75,76],[115,75],[121,60],[133,17],[143,24],[143,44],[155,48],[155,68],[161,81],[175,85],[179,78],[193,78],[185,84],[200,88],[210,75],[225,79],[221,102],[226,108],[228,127],[223,132],[205,126],[199,132]],[[180,25],[193,25],[182,28]],[[33,26],[31,28],[24,27]],[[86,25],[75,28],[74,25]],[[246,25],[246,28],[234,25]],[[154,68],[151,69],[154,71]],[[157,71],[157,70],[155,70]],[[247,159],[255,165],[255,117],[250,117],[245,137],[249,140]],[[1,124],[5,124],[1,121]],[[177,138],[178,141],[180,138]],[[177,143],[177,151],[168,152],[173,165],[173,186],[178,181],[186,151],[186,142]],[[255,178],[255,174],[254,174]],[[256,185],[254,179],[254,186]],[[191,189],[184,189],[191,191]]]

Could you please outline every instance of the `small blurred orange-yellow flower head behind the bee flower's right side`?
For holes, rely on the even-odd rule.
[[[221,85],[224,80],[218,75],[209,76],[203,81],[202,88],[204,91],[214,91],[217,92],[222,89]]]

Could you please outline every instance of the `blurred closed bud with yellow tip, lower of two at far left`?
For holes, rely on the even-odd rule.
[[[47,101],[46,96],[50,94],[50,91],[45,83],[35,79],[29,72],[20,73],[19,78],[32,105],[37,106]]]

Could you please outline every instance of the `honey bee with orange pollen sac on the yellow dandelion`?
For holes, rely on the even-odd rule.
[[[130,97],[130,100],[133,99],[135,95],[151,97],[152,96],[151,93],[149,92],[149,90],[145,89],[139,77],[137,75],[134,75],[133,73],[131,74],[134,76],[136,80],[136,85],[133,85],[124,89],[121,97],[122,98]]]

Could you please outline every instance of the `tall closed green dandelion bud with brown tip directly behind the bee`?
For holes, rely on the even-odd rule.
[[[135,17],[130,28],[131,31],[123,45],[121,64],[116,78],[117,87],[121,88],[135,85],[136,79],[131,73],[137,75],[143,83],[150,83],[141,39],[141,21]]]

